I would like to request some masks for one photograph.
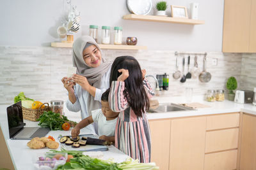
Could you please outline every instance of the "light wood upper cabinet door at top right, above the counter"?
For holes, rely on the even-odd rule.
[[[225,0],[223,52],[249,52],[251,0]]]

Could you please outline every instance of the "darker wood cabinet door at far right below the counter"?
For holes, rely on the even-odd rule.
[[[240,169],[256,169],[256,117],[243,115]]]

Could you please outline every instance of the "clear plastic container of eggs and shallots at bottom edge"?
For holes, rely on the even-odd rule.
[[[67,153],[45,153],[37,154],[34,157],[33,162],[35,169],[39,170],[51,170],[57,169],[58,166],[66,163],[68,158]]]

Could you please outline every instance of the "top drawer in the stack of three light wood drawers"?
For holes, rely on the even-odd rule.
[[[209,116],[206,119],[206,131],[230,127],[239,127],[239,117],[240,113]]]

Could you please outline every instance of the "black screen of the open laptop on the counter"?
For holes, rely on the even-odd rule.
[[[9,106],[7,109],[9,135],[12,138],[17,132],[23,129],[23,117],[21,101]]]

